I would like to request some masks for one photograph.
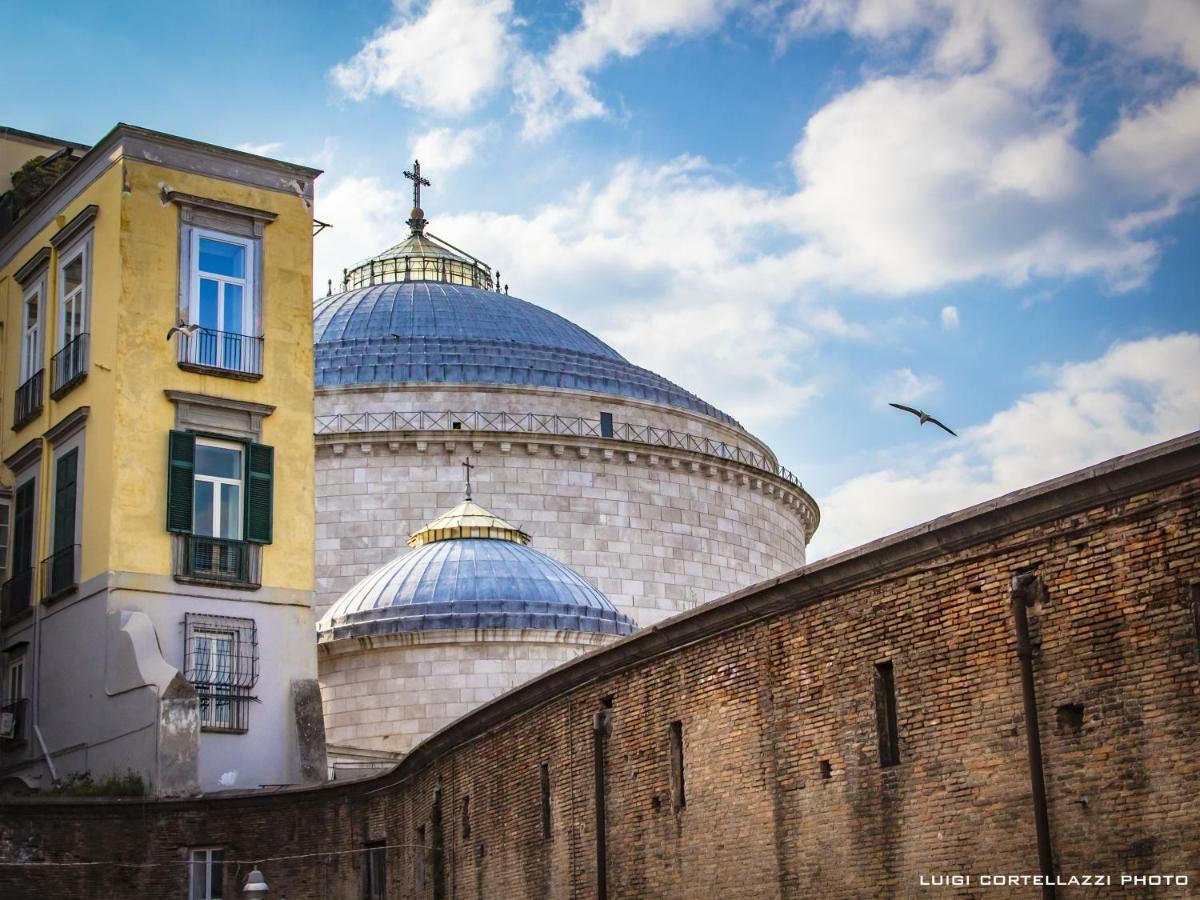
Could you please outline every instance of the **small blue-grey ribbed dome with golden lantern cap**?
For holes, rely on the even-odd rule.
[[[634,631],[608,598],[528,541],[467,500],[415,532],[416,550],[346,592],[317,624],[319,640],[442,629]]]

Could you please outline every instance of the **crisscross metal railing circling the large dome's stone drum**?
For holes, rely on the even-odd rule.
[[[608,422],[572,415],[542,413],[336,413],[316,418],[317,434],[361,434],[403,431],[487,431],[517,434],[557,434],[576,438],[612,438],[631,444],[664,446],[715,456],[767,472],[803,488],[800,480],[763,454],[671,428]]]

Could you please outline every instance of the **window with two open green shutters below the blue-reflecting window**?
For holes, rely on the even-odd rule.
[[[271,542],[275,451],[170,432],[167,530],[184,538],[176,576],[258,583],[254,544]]]

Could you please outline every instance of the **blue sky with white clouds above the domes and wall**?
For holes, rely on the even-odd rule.
[[[324,168],[318,288],[403,236],[420,155],[436,234],[775,448],[814,557],[1200,427],[1194,0],[25,2],[6,30],[36,40],[5,124]]]

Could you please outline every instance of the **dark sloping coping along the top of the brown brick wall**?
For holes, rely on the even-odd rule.
[[[445,726],[413,748],[390,772],[348,785],[286,790],[288,793],[307,794],[302,798],[304,802],[310,798],[334,799],[335,792],[340,791],[355,793],[386,791],[419,774],[456,748],[586,684],[731,629],[743,628],[800,606],[817,604],[826,598],[836,598],[848,590],[887,578],[890,574],[928,563],[936,557],[1195,478],[1200,478],[1200,432],[1014,491],[728,594],[578,656],[502,694]],[[1194,499],[1195,494],[1189,497]],[[258,796],[262,796],[262,792],[240,793],[228,799],[247,803]],[[221,797],[209,794],[199,800],[96,800],[94,803],[154,803],[160,806],[185,806]],[[53,799],[6,799],[6,803],[11,806],[30,803],[90,805],[79,800]]]

